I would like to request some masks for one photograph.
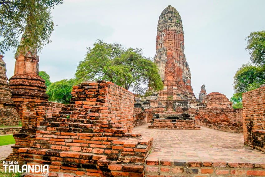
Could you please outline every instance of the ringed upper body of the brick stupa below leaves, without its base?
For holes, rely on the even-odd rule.
[[[39,56],[36,49],[15,57],[14,76],[9,79],[12,100],[22,119],[24,102],[47,102],[45,81],[39,76]]]

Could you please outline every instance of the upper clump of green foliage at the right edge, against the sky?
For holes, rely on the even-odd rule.
[[[265,31],[251,32],[248,37],[246,50],[249,51],[251,61],[259,66],[265,65]]]

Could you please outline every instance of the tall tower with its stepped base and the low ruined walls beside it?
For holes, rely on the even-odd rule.
[[[200,129],[195,126],[196,118],[197,125],[242,132],[242,110],[234,110],[225,95],[207,95],[205,85],[202,85],[199,99],[195,97],[184,54],[182,21],[174,7],[166,7],[159,16],[156,42],[157,54],[154,62],[158,66],[164,88],[142,100],[136,99],[135,125],[151,122],[149,128]],[[215,121],[217,119],[214,117],[219,115],[224,115],[227,120]]]

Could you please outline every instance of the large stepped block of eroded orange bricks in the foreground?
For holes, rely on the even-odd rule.
[[[73,86],[70,104],[52,117],[32,115],[32,105],[25,106],[23,117],[36,120],[36,138],[24,139],[30,147],[17,150],[22,163],[49,164],[49,176],[143,176],[152,139],[128,134],[131,92],[111,82],[85,82]]]

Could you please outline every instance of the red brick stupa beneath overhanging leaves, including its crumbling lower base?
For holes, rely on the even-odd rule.
[[[22,39],[23,40],[23,39]],[[37,50],[21,52],[15,57],[15,73],[9,79],[12,100],[22,120],[22,129],[13,134],[16,145],[6,160],[18,160],[18,149],[28,147],[36,137],[37,119],[49,109],[48,96],[45,93],[45,81],[39,76],[39,56]],[[42,107],[42,109],[40,109]]]

